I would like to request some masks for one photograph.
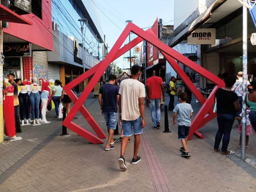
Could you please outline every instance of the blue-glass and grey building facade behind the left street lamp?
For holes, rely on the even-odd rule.
[[[84,63],[88,70],[106,56],[105,36],[100,17],[90,0],[52,0],[53,52],[47,52],[49,79],[62,84],[84,72],[82,34],[79,19],[84,22]],[[81,83],[74,92],[83,90]]]

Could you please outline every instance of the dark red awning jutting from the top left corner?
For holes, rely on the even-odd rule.
[[[20,24],[28,24],[32,25],[33,23],[29,20],[23,18],[22,16],[16,14],[12,10],[0,4],[0,18],[2,21],[12,22],[12,23],[20,23]]]

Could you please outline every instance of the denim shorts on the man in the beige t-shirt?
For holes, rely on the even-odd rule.
[[[142,126],[141,117],[133,121],[122,120],[122,124],[123,124],[124,137],[129,137],[132,135],[132,132],[131,132],[132,128],[133,128],[133,134],[135,135],[143,133],[143,129],[141,128]]]

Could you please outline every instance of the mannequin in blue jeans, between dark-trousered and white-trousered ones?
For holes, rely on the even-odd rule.
[[[40,102],[40,95],[38,91],[38,83],[37,78],[32,78],[33,82],[31,84],[31,93],[29,95],[29,101],[32,107],[31,113],[33,118],[32,125],[40,125],[39,123],[39,102]]]

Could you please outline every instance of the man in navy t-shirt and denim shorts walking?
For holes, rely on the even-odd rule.
[[[115,85],[116,80],[117,77],[115,75],[110,75],[109,83],[100,87],[98,98],[101,113],[104,115],[106,127],[109,132],[109,138],[105,148],[106,151],[114,149],[115,147],[111,145],[116,142],[116,139],[113,139],[114,130],[117,126],[117,101],[119,98],[119,87]]]

